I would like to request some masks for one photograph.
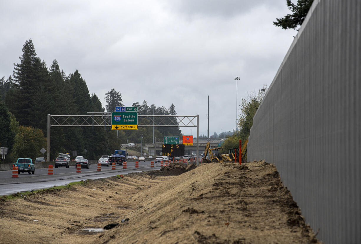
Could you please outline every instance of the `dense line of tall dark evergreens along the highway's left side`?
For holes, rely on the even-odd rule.
[[[22,47],[20,62],[14,64],[14,72],[7,79],[0,79],[0,146],[8,147],[5,162],[13,162],[18,157],[42,157],[39,150],[47,148],[47,114],[86,115],[86,112],[104,112],[100,99],[90,94],[86,81],[76,69],[68,75],[61,70],[56,59],[50,68],[36,55],[31,39]],[[106,110],[115,111],[114,105],[123,106],[121,94],[110,90],[106,95]],[[117,102],[115,104],[114,102]],[[169,108],[148,106],[135,102],[139,115],[176,115],[175,106]],[[155,137],[179,135],[178,127],[158,127]],[[59,153],[77,151],[88,159],[111,154],[127,141],[152,142],[152,128],[139,127],[138,130],[119,131],[94,127],[52,127],[51,159]],[[45,153],[46,155],[46,153]]]

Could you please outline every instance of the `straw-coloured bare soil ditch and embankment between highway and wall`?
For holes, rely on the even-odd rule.
[[[85,183],[0,202],[0,243],[318,243],[264,161]]]

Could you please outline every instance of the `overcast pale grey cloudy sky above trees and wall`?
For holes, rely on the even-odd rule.
[[[211,136],[236,127],[234,77],[238,104],[271,84],[296,35],[273,25],[287,13],[286,0],[0,0],[0,78],[32,39],[48,67],[78,69],[103,107],[113,87],[125,106],[174,103],[206,135],[209,95]]]

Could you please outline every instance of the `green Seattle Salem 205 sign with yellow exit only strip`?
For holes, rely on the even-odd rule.
[[[112,112],[112,130],[138,129],[138,112]]]

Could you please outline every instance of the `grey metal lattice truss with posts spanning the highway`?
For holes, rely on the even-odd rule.
[[[106,127],[112,126],[111,112],[87,112],[88,115],[50,115],[48,114],[48,157],[50,161],[51,127]],[[197,127],[197,163],[199,115],[138,115],[138,127]]]

